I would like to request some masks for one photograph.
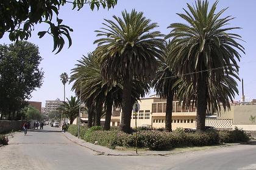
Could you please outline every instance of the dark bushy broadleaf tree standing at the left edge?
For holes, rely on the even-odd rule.
[[[41,60],[38,47],[30,42],[0,45],[0,112],[9,120],[20,118],[21,109],[27,105],[25,100],[41,87]]]

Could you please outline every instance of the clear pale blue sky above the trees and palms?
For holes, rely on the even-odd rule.
[[[72,4],[65,5],[60,10],[60,18],[63,19],[63,24],[69,25],[74,29],[71,33],[73,39],[73,45],[68,49],[68,46],[63,47],[63,50],[57,55],[52,52],[52,39],[50,36],[44,36],[39,39],[37,32],[47,29],[44,25],[37,25],[35,32],[29,39],[30,42],[36,44],[40,49],[40,55],[43,58],[40,67],[44,70],[44,82],[40,89],[37,89],[32,93],[31,101],[41,101],[44,106],[45,100],[55,100],[60,98],[63,100],[63,85],[60,81],[60,74],[63,72],[70,75],[71,69],[80,60],[82,55],[86,55],[88,52],[93,51],[96,45],[93,44],[96,39],[96,33],[94,30],[98,30],[102,27],[103,19],[112,19],[113,15],[121,16],[121,11],[126,9],[128,11],[136,9],[137,11],[144,12],[144,16],[157,22],[160,32],[167,34],[169,32],[166,27],[173,22],[184,22],[176,13],[181,13],[182,8],[187,9],[187,2],[189,4],[194,1],[180,1],[180,0],[118,0],[118,4],[115,9],[99,11],[94,10],[93,12],[89,7],[77,12],[72,9]],[[210,4],[213,4],[210,0]],[[240,78],[244,78],[244,92],[249,98],[256,98],[256,77],[255,72],[255,0],[220,0],[218,4],[218,10],[229,7],[226,12],[222,15],[232,15],[235,17],[230,21],[231,27],[242,27],[241,30],[236,30],[243,37],[246,42],[241,44],[246,49],[246,55],[242,55],[240,63]],[[0,44],[10,43],[8,36],[0,39]],[[238,88],[241,92],[241,83],[238,82]],[[71,92],[71,84],[66,86],[66,97],[74,95]],[[235,100],[240,100],[241,94],[237,95]]]

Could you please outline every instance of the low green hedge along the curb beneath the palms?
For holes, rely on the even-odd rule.
[[[71,125],[68,131],[77,136],[77,126]],[[70,127],[69,127],[70,128]],[[135,134],[126,134],[118,129],[102,131],[102,127],[96,126],[86,130],[81,127],[80,137],[85,141],[114,149],[115,146],[135,147]],[[150,150],[164,150],[185,146],[208,146],[219,143],[235,143],[249,141],[246,133],[240,129],[234,131],[205,131],[185,133],[183,131],[138,131],[138,147]]]

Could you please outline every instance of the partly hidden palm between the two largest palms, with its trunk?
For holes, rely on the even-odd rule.
[[[157,95],[160,98],[166,99],[165,130],[168,132],[172,131],[172,101],[174,98],[174,92],[176,92],[174,84],[177,81],[171,67],[166,64],[166,56],[169,56],[170,49],[171,44],[166,42],[165,49],[163,50],[163,56],[159,61],[155,79],[152,81],[152,86],[154,86]]]

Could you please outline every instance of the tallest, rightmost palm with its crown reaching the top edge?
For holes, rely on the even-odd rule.
[[[193,93],[188,95],[188,100],[194,98],[197,115],[197,130],[205,130],[205,114],[207,106],[215,106],[217,98],[212,98],[209,92],[212,92],[215,85],[216,89],[221,86],[218,82],[225,81],[227,75],[233,76],[238,72],[236,60],[240,61],[241,55],[236,50],[244,53],[244,48],[236,39],[241,37],[227,31],[240,29],[240,27],[224,27],[232,20],[231,16],[220,18],[223,9],[215,13],[218,1],[216,1],[210,10],[208,10],[208,1],[198,0],[195,6],[188,4],[186,14],[178,14],[185,19],[188,24],[174,23],[169,25],[171,32],[166,38],[172,38],[175,46],[171,50],[171,56],[168,57],[168,63],[180,75],[187,84],[191,84]],[[208,84],[212,79],[215,82]],[[210,88],[210,89],[209,89]],[[233,93],[229,89],[226,95]],[[216,97],[216,95],[214,96]],[[219,99],[224,108],[229,109],[228,101]],[[219,109],[215,108],[215,109]]]

